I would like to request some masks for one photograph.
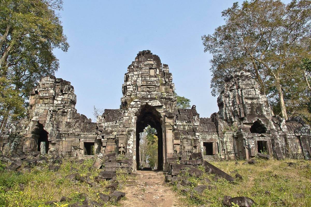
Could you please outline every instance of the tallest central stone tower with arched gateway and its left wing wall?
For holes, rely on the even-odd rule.
[[[174,156],[173,126],[176,110],[174,83],[168,65],[150,50],[137,54],[128,66],[122,85],[120,109],[105,110],[98,117],[99,151],[118,151],[139,169],[139,133],[150,125],[158,136],[158,169]]]

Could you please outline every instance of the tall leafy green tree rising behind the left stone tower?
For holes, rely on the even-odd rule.
[[[63,26],[55,13],[61,0],[0,0],[1,124],[18,117],[30,91],[43,76],[58,69],[54,48],[67,51]],[[15,101],[7,101],[16,97]],[[21,98],[24,101],[21,101]]]

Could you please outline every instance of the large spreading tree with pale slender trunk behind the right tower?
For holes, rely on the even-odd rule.
[[[262,92],[275,89],[281,115],[287,119],[284,87],[290,85],[286,83],[290,77],[284,77],[288,71],[301,77],[301,71],[293,68],[311,57],[311,1],[292,0],[285,5],[279,0],[252,0],[241,7],[236,2],[222,16],[225,25],[202,36],[204,51],[213,54],[212,94],[220,92],[224,78],[234,70],[246,70]]]

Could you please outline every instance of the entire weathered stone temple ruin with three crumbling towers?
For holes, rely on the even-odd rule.
[[[2,154],[41,151],[64,158],[90,158],[117,152],[126,167],[139,169],[139,133],[147,125],[158,136],[159,169],[192,153],[206,160],[250,159],[265,153],[276,159],[310,159],[310,125],[272,117],[267,97],[246,72],[225,79],[219,111],[200,118],[196,106],[177,109],[168,65],[149,50],[128,66],[119,109],[106,109],[91,122],[75,109],[70,82],[48,76],[30,94],[26,119],[0,137]],[[124,164],[123,164],[124,166]]]

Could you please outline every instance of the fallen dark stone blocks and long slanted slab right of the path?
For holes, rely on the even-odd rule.
[[[214,188],[211,185],[198,185],[193,188],[193,191],[190,190],[192,182],[187,179],[186,175],[197,178],[202,177],[203,171],[198,169],[199,166],[202,166],[204,168],[205,173],[214,174],[215,181],[217,181],[218,178],[225,178],[229,182],[234,181],[234,178],[232,176],[212,165],[211,163],[204,161],[201,152],[191,154],[190,160],[185,160],[183,158],[184,157],[176,157],[171,159],[171,162],[169,162],[169,172],[165,176],[165,182],[169,182],[172,185],[176,184],[176,187],[182,189],[182,192],[189,193],[190,198],[192,199],[195,199],[196,195],[202,195],[203,191],[205,191],[206,189],[211,190]],[[235,175],[235,178],[242,179],[242,176],[237,173]],[[205,178],[205,181],[207,183],[211,182],[208,178]],[[245,196],[239,196],[234,198],[230,196],[224,197],[224,205],[231,206],[231,202],[239,205],[240,207],[250,207],[254,204],[254,201],[251,198]]]

